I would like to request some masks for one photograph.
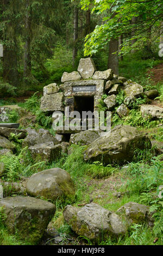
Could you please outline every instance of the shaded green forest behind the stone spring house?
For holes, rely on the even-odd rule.
[[[159,0],[1,0],[0,19],[2,97],[60,83],[64,71],[76,70],[79,59],[90,54],[98,70],[112,68],[139,82],[142,72],[162,59]]]

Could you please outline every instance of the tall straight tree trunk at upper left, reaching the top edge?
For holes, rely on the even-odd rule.
[[[30,9],[30,0],[26,0],[26,21],[25,21],[25,28],[26,28],[26,44],[24,46],[24,77],[30,76],[31,74],[31,54],[30,54],[30,41],[32,35],[31,29],[31,9]]]

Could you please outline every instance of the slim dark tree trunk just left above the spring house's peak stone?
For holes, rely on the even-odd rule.
[[[77,40],[78,40],[78,19],[79,19],[79,9],[74,7],[74,33],[73,33],[73,66],[75,65],[75,60],[78,55]]]

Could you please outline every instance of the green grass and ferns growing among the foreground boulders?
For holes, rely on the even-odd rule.
[[[108,239],[107,241],[99,241],[99,245],[144,245],[153,244],[155,236],[159,238],[157,244],[162,243],[162,199],[157,197],[158,187],[162,184],[162,156],[153,157],[149,160],[146,159],[135,160],[135,162],[127,163],[127,169],[124,171],[122,166],[107,166],[103,167],[100,162],[86,163],[83,159],[83,151],[85,147],[79,145],[72,145],[70,150],[71,155],[63,154],[61,159],[51,164],[49,163],[33,163],[29,162],[29,156],[27,149],[23,149],[20,154],[12,155],[11,157],[1,157],[0,161],[5,164],[5,180],[17,181],[20,179],[20,175],[29,176],[35,172],[43,169],[49,169],[59,167],[65,169],[70,173],[71,178],[76,186],[76,197],[73,200],[58,198],[56,202],[57,211],[52,220],[53,226],[57,229],[59,234],[64,237],[64,241],[68,242],[67,237],[74,235],[70,225],[67,225],[62,216],[62,211],[67,204],[81,207],[86,203],[97,203],[106,209],[116,212],[118,208],[128,202],[136,202],[149,205],[151,210],[155,210],[156,214],[154,228],[149,228],[143,224],[133,224],[129,233],[125,237],[118,239]],[[26,151],[26,154],[24,155]],[[32,160],[31,160],[32,161]],[[137,161],[137,162],[136,162]],[[92,193],[95,188],[101,189],[99,185],[93,185],[91,182],[101,180],[101,184],[105,179],[116,180],[116,177],[121,176],[122,185],[115,191],[120,191],[122,196],[116,198],[115,191],[104,190],[103,197],[93,197]],[[88,184],[90,184],[88,186]],[[114,203],[113,203],[114,202]],[[9,235],[7,228],[3,226],[1,228],[3,239],[0,240],[0,244],[22,244],[23,242],[16,240],[16,236]],[[143,236],[141,235],[143,234]],[[83,238],[80,237],[76,240],[76,244],[80,243]],[[16,242],[18,241],[18,242]],[[28,241],[29,242],[29,241]],[[28,243],[26,241],[26,243]],[[53,241],[52,241],[53,242]],[[93,244],[92,241],[84,239],[85,244]],[[30,243],[30,242],[29,242]]]

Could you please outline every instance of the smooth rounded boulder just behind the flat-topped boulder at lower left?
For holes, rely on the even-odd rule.
[[[29,196],[57,200],[58,197],[74,197],[71,176],[65,170],[53,168],[33,174],[26,184]]]

